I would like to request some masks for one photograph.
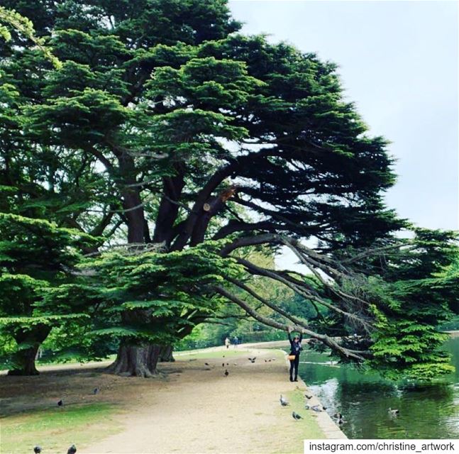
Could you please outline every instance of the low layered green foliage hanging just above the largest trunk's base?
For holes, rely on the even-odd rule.
[[[175,342],[225,304],[206,294],[206,287],[241,273],[233,259],[221,258],[219,248],[221,242],[210,242],[170,254],[113,252],[85,260],[84,279],[54,289],[52,304],[91,305],[87,334],[96,338]]]

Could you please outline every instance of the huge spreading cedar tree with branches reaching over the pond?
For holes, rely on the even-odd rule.
[[[2,6],[0,185],[13,202],[0,208],[22,216],[11,247],[36,223],[55,251],[55,262],[2,272],[27,276],[14,303],[27,316],[91,317],[72,322],[73,338],[55,328],[62,348],[80,336],[103,355],[116,341],[114,370],[148,376],[158,345],[250,314],[388,375],[448,372],[436,327],[457,303],[438,273],[455,240],[397,239],[411,226],[383,199],[395,182],[389,142],[368,133],[335,64],[238,33],[223,0]],[[74,232],[96,239],[75,243]],[[284,245],[311,275],[248,260]],[[260,278],[295,301],[260,298]]]

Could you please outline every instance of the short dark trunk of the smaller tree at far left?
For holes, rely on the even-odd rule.
[[[34,331],[18,331],[13,338],[18,343],[19,350],[13,354],[13,368],[8,375],[38,375],[35,367],[35,358],[41,343],[48,337],[50,326],[37,326]],[[28,348],[21,348],[21,344],[31,345]]]

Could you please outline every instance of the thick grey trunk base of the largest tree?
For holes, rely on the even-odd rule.
[[[160,350],[161,346],[157,344],[130,345],[122,342],[115,362],[106,370],[133,377],[153,377],[157,375],[156,365],[160,358]]]

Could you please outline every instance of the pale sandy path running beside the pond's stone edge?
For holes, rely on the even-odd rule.
[[[129,408],[118,417],[124,431],[79,453],[302,453],[303,438],[322,438],[315,415],[294,421],[292,409],[280,406],[280,394],[298,387],[288,381],[281,352],[224,354],[192,361],[177,356],[166,381],[129,393]]]

